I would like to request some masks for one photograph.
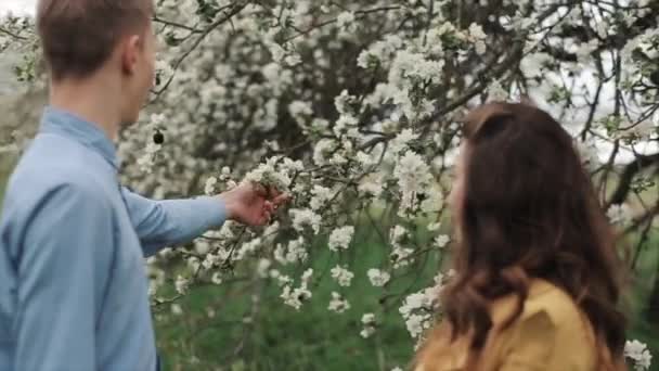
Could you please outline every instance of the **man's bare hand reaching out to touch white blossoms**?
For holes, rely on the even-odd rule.
[[[228,218],[248,226],[263,226],[272,213],[288,201],[288,195],[261,186],[244,182],[220,195],[227,205]]]

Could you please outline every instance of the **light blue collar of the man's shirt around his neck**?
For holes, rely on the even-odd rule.
[[[70,138],[99,153],[115,169],[119,168],[115,143],[95,124],[64,110],[47,106],[39,132]]]

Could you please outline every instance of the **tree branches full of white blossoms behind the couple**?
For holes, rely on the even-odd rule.
[[[208,194],[237,181],[290,192],[292,206],[250,230],[228,223],[148,261],[156,307],[236,276],[280,285],[305,310],[320,280],[330,311],[350,314],[346,256],[377,229],[387,261],[367,279],[413,337],[441,312],[450,272],[421,292],[388,287],[451,243],[444,199],[458,119],[489,100],[530,99],[573,135],[603,204],[633,234],[632,268],[659,214],[659,4],[625,1],[159,0],[164,46],[147,114],[122,132],[127,184],[155,197]],[[34,25],[7,17],[0,50],[18,79],[42,81]],[[419,230],[431,238],[419,238]],[[311,269],[322,241],[334,263]],[[172,246],[173,247],[173,246]],[[656,248],[656,246],[655,246]],[[434,260],[434,261],[436,261]],[[161,269],[181,261],[184,270]],[[178,292],[164,296],[172,282]],[[659,281],[658,281],[659,282]],[[659,304],[659,284],[652,300]],[[246,295],[246,297],[248,297]],[[175,307],[176,308],[176,307]],[[375,309],[374,309],[375,311]],[[656,316],[656,315],[655,315]],[[638,369],[649,353],[630,343]]]

